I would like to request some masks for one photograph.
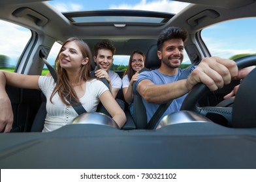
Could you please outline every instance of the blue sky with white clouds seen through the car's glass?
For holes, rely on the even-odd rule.
[[[121,8],[163,11],[176,14],[187,6],[187,3],[168,0],[93,0],[93,3],[91,1],[88,3],[88,0],[56,0],[48,2],[61,12]],[[222,23],[222,25],[215,25],[214,27],[208,28],[207,31],[202,31],[202,38],[212,55],[229,58],[232,55],[240,53],[255,53],[256,44],[254,44],[254,41],[251,41],[256,40],[255,26],[256,18],[227,21]],[[8,44],[8,46],[3,44],[4,42],[10,42],[10,38],[5,36],[3,32],[8,32],[13,40],[20,39],[20,42],[23,42],[30,34],[24,29],[20,29],[4,21],[0,21],[0,27],[0,55],[8,55],[11,59],[16,60],[25,45],[16,44],[16,42]],[[226,33],[223,34],[223,32]],[[56,55],[52,55],[50,59],[55,59],[55,57]],[[114,64],[119,63],[114,61]]]

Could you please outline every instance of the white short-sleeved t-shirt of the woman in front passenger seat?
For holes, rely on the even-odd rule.
[[[65,105],[58,94],[55,94],[52,98],[53,103],[50,101],[50,96],[55,86],[56,83],[54,83],[52,77],[39,77],[40,90],[42,90],[47,99],[47,114],[42,132],[54,131],[63,125],[71,123],[72,120],[78,116],[76,110],[74,110],[72,106]],[[79,99],[84,109],[86,109],[87,112],[95,112],[99,104],[99,97],[106,90],[108,90],[106,85],[97,79],[86,81],[86,92],[84,96]]]

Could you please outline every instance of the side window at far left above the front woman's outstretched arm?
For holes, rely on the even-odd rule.
[[[31,31],[3,20],[0,20],[0,27],[0,70],[14,72]]]

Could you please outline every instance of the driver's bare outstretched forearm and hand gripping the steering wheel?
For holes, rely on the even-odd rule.
[[[217,90],[229,84],[237,74],[238,68],[233,60],[209,57],[202,59],[187,80],[155,85],[152,81],[145,79],[138,83],[138,92],[146,102],[161,104],[184,96],[197,83],[204,83],[210,90]]]

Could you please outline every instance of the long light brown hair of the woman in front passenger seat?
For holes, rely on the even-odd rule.
[[[69,77],[67,75],[67,71],[63,68],[61,68],[59,64],[59,54],[61,53],[63,46],[67,44],[67,42],[75,42],[76,45],[80,48],[80,51],[82,52],[82,55],[85,58],[88,58],[89,61],[87,64],[82,65],[81,69],[79,71],[79,83],[82,83],[82,81],[88,81],[91,79],[89,77],[89,72],[90,72],[90,62],[91,62],[91,50],[89,49],[89,46],[83,41],[80,40],[79,38],[72,37],[67,39],[62,47],[61,50],[59,51],[57,58],[55,60],[55,68],[57,72],[57,83],[56,87],[54,88],[54,91],[52,92],[52,95],[50,97],[50,101],[52,102],[52,98],[54,94],[59,94],[59,97],[61,98],[61,101],[65,105],[78,105],[80,104],[80,101],[78,97],[76,96],[76,92],[74,91],[74,88],[72,88],[71,81],[69,80]]]

